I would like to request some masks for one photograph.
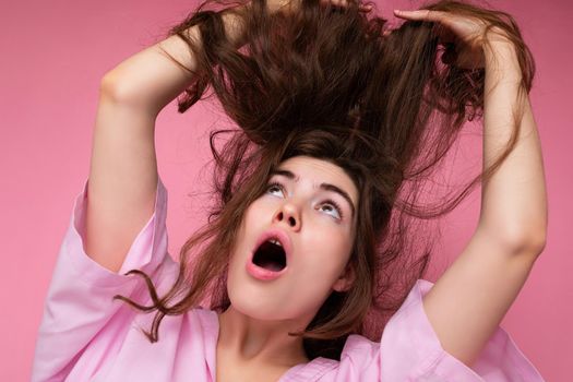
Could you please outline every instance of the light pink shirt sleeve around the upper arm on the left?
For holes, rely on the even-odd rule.
[[[62,381],[89,342],[117,315],[133,314],[115,295],[133,298],[146,291],[139,268],[155,282],[175,263],[167,253],[167,190],[157,182],[152,217],[133,240],[123,264],[114,273],[84,251],[87,183],[75,196],[72,216],[63,237],[44,306],[32,369],[32,381]]]

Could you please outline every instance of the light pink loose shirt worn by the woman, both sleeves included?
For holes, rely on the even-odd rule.
[[[131,268],[151,275],[159,294],[177,276],[178,264],[167,253],[167,190],[162,180],[155,212],[134,239],[118,274],[83,250],[86,195],[87,179],[75,198],[46,298],[32,381],[215,381],[216,312],[198,308],[165,317],[159,341],[151,344],[140,327],[148,330],[154,314],[111,299],[120,294],[148,305],[143,279],[122,275]],[[432,285],[417,280],[380,343],[350,335],[341,361],[315,358],[289,369],[279,382],[542,381],[501,327],[471,369],[444,351],[421,305]]]

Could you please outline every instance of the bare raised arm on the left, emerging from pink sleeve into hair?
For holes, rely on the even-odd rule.
[[[240,23],[225,14],[226,31],[240,41]],[[198,26],[188,29],[200,41]],[[85,252],[118,272],[154,211],[157,188],[155,120],[192,81],[196,62],[188,45],[170,36],[106,73],[93,135],[87,189]]]

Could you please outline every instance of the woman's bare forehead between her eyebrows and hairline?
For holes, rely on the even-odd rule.
[[[358,190],[353,179],[345,170],[327,160],[313,158],[310,156],[295,156],[278,165],[278,169],[289,170],[299,180],[311,181],[312,183],[330,183],[345,190],[350,199],[358,201]]]

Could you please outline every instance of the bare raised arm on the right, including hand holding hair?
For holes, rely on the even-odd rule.
[[[441,23],[470,47],[485,24],[437,11],[397,13],[408,20]],[[498,158],[515,123],[517,143],[481,188],[478,227],[466,248],[425,296],[423,308],[443,348],[471,366],[522,289],[542,252],[547,196],[541,145],[515,46],[498,31],[479,43],[475,64],[485,64],[484,166]],[[469,48],[468,48],[469,49]],[[514,119],[515,118],[515,119]]]

